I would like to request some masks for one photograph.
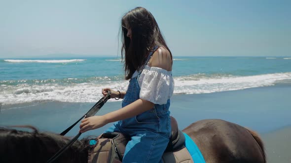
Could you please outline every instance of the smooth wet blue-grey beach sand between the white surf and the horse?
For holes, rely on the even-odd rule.
[[[209,94],[174,95],[171,115],[180,129],[201,119],[223,119],[258,132],[265,143],[268,163],[291,162],[291,86],[250,88]],[[73,124],[94,103],[39,102],[4,105],[0,125],[33,125],[40,131],[61,133]],[[121,102],[108,102],[97,113],[119,109]],[[100,135],[111,124],[89,131],[81,137]],[[78,125],[68,133],[75,136]]]

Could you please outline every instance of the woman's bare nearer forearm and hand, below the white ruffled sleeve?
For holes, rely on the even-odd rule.
[[[82,120],[80,124],[80,133],[84,133],[89,130],[98,129],[110,122],[115,122],[130,118],[145,112],[146,110],[152,109],[154,104],[152,102],[138,99],[135,102],[127,105],[124,108],[116,111],[109,112],[102,116],[92,116]]]

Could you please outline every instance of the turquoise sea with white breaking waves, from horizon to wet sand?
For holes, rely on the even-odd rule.
[[[175,57],[174,94],[291,83],[291,57]],[[126,90],[117,57],[0,59],[0,103],[95,102],[101,89]]]

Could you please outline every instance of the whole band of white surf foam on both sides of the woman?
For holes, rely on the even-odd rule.
[[[291,81],[291,72],[245,77],[229,75],[206,76],[204,74],[197,74],[176,77],[174,80],[174,94],[212,93],[270,86],[277,82]],[[24,83],[15,86],[0,85],[0,103],[6,105],[46,100],[61,102],[97,102],[102,97],[102,88],[110,87],[114,90],[126,90],[127,85],[128,81],[106,81],[98,84],[74,83],[68,85],[59,85],[56,83],[42,85]]]

